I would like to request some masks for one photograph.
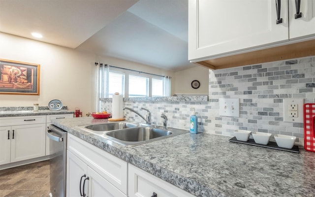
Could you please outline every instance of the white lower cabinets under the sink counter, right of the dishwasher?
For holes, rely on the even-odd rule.
[[[67,136],[66,196],[195,197],[70,133]]]

